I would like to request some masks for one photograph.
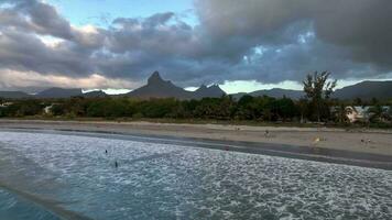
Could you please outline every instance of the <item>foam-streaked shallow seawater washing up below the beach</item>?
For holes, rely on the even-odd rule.
[[[131,140],[0,132],[1,185],[0,217],[392,219],[391,170]]]

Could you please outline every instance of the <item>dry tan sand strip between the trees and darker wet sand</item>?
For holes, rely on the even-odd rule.
[[[392,156],[392,131],[329,128],[247,127],[222,124],[171,124],[151,122],[91,122],[0,120],[0,129],[47,129],[91,132],[116,132],[176,138],[285,144],[312,148],[342,150]],[[269,134],[265,135],[265,131]]]

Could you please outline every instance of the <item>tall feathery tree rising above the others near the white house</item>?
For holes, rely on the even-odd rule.
[[[322,121],[323,114],[329,113],[328,100],[337,84],[337,80],[328,80],[329,76],[328,72],[322,74],[315,72],[313,75],[308,74],[303,81],[306,98],[309,99],[313,114],[318,122]]]

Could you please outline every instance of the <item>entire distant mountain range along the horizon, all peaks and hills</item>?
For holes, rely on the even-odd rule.
[[[138,89],[134,89],[128,94],[120,95],[124,97],[132,97],[138,99],[150,99],[150,98],[176,98],[176,99],[202,99],[205,97],[217,98],[226,95],[226,92],[220,89],[218,85],[205,86],[202,85],[195,91],[188,91],[174,85],[170,80],[164,80],[157,72],[154,72],[148,79],[148,84]],[[236,99],[241,98],[243,95],[250,96],[269,96],[274,98],[282,98],[283,96],[292,99],[300,99],[304,97],[302,90],[290,90],[290,89],[263,89],[257,90],[249,94],[239,92],[232,94],[231,96]],[[0,91],[1,98],[9,99],[26,99],[26,98],[69,98],[69,97],[86,97],[86,98],[100,98],[107,97],[109,95],[101,90],[83,92],[81,89],[66,89],[66,88],[50,88],[43,90],[36,95],[29,95],[23,91]],[[355,99],[361,98],[363,100],[369,100],[371,98],[378,99],[389,99],[392,98],[392,81],[362,81],[352,86],[347,86],[341,89],[337,89],[334,98],[339,99]]]

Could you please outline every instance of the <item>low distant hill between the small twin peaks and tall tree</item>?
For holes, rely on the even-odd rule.
[[[240,94],[235,94],[232,96],[236,99],[240,99],[244,95],[250,95],[253,97],[269,96],[269,97],[273,97],[273,98],[283,98],[285,96],[291,99],[301,99],[302,97],[304,97],[305,94],[301,90],[273,88],[273,89],[257,90],[257,91],[252,91],[249,94],[240,92]]]

